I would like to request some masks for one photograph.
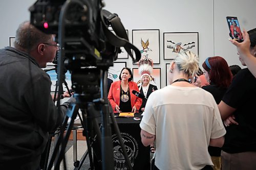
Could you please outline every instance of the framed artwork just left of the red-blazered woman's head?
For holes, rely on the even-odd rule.
[[[113,82],[119,81],[119,75],[123,67],[126,67],[126,62],[114,62],[114,65],[109,67],[108,78]]]

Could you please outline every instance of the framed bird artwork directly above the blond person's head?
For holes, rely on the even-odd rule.
[[[178,53],[191,51],[198,56],[198,32],[163,33],[164,60],[174,59]]]

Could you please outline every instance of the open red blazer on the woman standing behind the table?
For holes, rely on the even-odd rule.
[[[110,87],[108,99],[110,101],[113,112],[115,112],[116,105],[120,104],[120,89],[121,89],[121,80],[113,82]],[[129,92],[131,94],[131,105],[132,108],[136,106],[137,112],[140,109],[142,104],[142,99],[138,98],[136,95],[132,93],[133,90],[139,91],[137,83],[130,81],[129,82]],[[132,110],[131,110],[132,111]]]

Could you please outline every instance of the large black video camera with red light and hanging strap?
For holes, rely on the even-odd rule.
[[[93,72],[95,76],[99,76],[97,70],[113,66],[113,61],[121,52],[121,46],[132,57],[133,62],[140,59],[141,54],[129,42],[118,15],[102,9],[103,7],[100,0],[38,0],[29,8],[32,25],[42,32],[56,34],[58,37],[58,72],[63,70],[61,64],[65,63],[73,78],[74,74],[80,72],[83,75]],[[110,26],[115,34],[109,30]],[[136,58],[131,50],[135,52]],[[77,88],[77,85],[86,82],[77,82],[73,78],[72,89],[79,93],[88,91],[84,87],[75,89],[74,84]]]

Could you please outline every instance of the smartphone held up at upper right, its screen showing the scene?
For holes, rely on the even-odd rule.
[[[229,28],[229,36],[238,42],[242,42],[243,36],[242,36],[242,31],[241,27],[238,22],[238,18],[235,16],[227,16],[227,24]]]

